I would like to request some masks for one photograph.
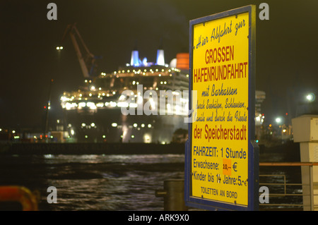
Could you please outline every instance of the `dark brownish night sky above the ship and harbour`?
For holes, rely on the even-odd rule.
[[[47,20],[49,2],[57,20]],[[258,18],[261,2],[269,20]],[[42,128],[51,79],[51,118],[62,115],[59,96],[83,80],[71,39],[61,43],[70,23],[102,56],[98,73],[110,73],[130,62],[135,44],[141,59],[155,61],[160,39],[169,63],[189,51],[189,20],[249,4],[257,6],[256,88],[266,92],[266,123],[286,112],[294,117],[308,92],[318,95],[317,0],[1,0],[0,128]]]

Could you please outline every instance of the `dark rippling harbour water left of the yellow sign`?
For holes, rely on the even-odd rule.
[[[41,193],[40,210],[163,210],[155,190],[184,178],[184,155],[1,156],[0,185]],[[57,188],[57,204],[47,188]]]

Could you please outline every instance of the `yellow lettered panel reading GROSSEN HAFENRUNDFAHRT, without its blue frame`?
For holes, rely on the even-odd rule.
[[[248,205],[249,13],[193,27],[192,196]]]

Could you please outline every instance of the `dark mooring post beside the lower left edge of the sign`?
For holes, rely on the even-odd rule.
[[[184,180],[166,180],[163,182],[163,190],[156,190],[155,197],[163,197],[163,210],[187,211],[184,202]]]

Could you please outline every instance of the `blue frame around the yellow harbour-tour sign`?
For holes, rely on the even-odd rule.
[[[227,202],[207,200],[192,196],[192,123],[189,123],[189,139],[185,145],[185,168],[184,168],[184,200],[189,207],[196,207],[208,210],[240,210],[252,211],[259,209],[259,146],[255,142],[255,48],[256,48],[256,6],[249,5],[235,8],[223,13],[216,13],[211,16],[197,18],[189,23],[189,92],[192,92],[193,83],[193,40],[194,25],[206,23],[211,20],[235,16],[240,13],[249,13],[249,109],[248,109],[248,205],[233,205]],[[189,95],[189,110],[192,111],[192,95]],[[189,115],[191,116],[191,115]]]

